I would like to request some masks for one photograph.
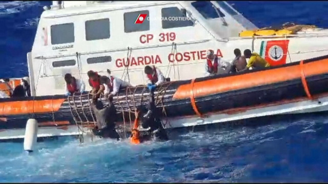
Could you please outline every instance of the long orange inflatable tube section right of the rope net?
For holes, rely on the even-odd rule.
[[[179,86],[173,95],[173,99],[184,99],[191,96],[194,98],[207,96],[216,93],[269,85],[297,78],[304,81],[305,77],[319,75],[322,73],[328,73],[328,58],[306,64],[300,62],[300,65],[246,73],[242,75],[234,75],[229,77],[215,78],[198,82],[195,81],[191,84]],[[304,86],[304,88],[306,87]]]

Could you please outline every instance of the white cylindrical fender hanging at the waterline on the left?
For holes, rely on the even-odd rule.
[[[29,119],[26,122],[24,150],[32,152],[37,141],[37,120]]]

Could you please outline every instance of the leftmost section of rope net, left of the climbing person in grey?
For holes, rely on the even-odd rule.
[[[87,134],[88,131],[90,131],[91,141],[93,141],[94,135],[92,128],[96,125],[96,119],[93,115],[93,110],[90,104],[90,94],[73,93],[73,95],[68,96],[67,99],[72,117],[77,126],[80,143],[84,142],[84,134]],[[84,128],[87,128],[87,130],[85,131]]]

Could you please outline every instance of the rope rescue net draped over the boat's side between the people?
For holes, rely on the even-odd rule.
[[[160,111],[161,116],[165,119],[162,120],[162,126],[171,128],[170,121],[167,118],[167,112],[164,106],[164,99],[171,97],[168,94],[167,85],[160,85],[154,92],[155,106]],[[109,105],[109,100],[104,95],[99,97],[104,107]],[[78,129],[78,136],[80,142],[84,142],[84,134],[91,133],[93,139],[92,129],[96,126],[96,117],[92,108],[92,95],[74,93],[72,96],[67,97],[71,115],[75,121]],[[135,111],[140,105],[147,107],[150,100],[150,92],[146,86],[127,87],[120,90],[120,92],[113,97],[112,103],[115,106],[118,121],[116,124],[116,132],[120,138],[128,138],[127,133],[131,132],[133,128],[133,121],[135,119]]]

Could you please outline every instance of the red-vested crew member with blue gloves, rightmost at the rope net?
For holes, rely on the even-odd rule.
[[[147,87],[149,90],[154,90],[157,86],[166,81],[162,72],[155,66],[150,67],[147,65],[145,67],[145,74],[147,75]]]

